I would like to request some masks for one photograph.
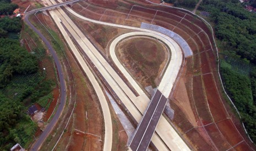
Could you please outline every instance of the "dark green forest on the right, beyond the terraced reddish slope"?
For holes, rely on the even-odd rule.
[[[256,14],[243,5],[236,0],[205,0],[199,9],[210,13],[222,52],[220,72],[225,90],[256,142]]]

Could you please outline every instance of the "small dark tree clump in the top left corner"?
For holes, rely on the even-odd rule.
[[[17,4],[10,3],[10,0],[0,0],[0,15],[10,15],[18,8]],[[1,21],[0,21],[1,22]]]

